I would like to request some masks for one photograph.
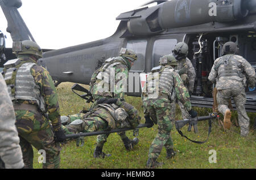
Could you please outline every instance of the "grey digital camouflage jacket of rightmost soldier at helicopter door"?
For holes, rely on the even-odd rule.
[[[226,71],[224,62],[222,62],[224,61],[224,59],[232,63],[230,68],[231,68],[231,72],[233,72],[234,75],[232,74],[229,74],[228,76],[221,75]],[[212,83],[216,82],[216,88],[218,90],[228,89],[233,87],[243,88],[244,86],[246,86],[245,79],[247,79],[249,87],[254,87],[255,86],[255,70],[250,65],[250,63],[247,62],[246,59],[241,57],[240,55],[226,54],[220,58],[217,58],[214,61],[214,65],[212,67],[212,70],[210,71],[208,79]]]

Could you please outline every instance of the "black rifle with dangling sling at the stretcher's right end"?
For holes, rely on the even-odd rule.
[[[181,136],[187,138],[188,140],[190,140],[193,143],[203,144],[203,143],[207,142],[207,140],[209,138],[209,135],[210,135],[210,132],[212,131],[212,119],[217,118],[217,117],[218,117],[217,113],[211,113],[208,116],[201,116],[201,117],[195,117],[195,118],[191,118],[191,119],[184,119],[184,120],[180,120],[180,121],[175,121],[175,127],[176,127],[176,130],[179,132],[179,134]],[[191,131],[191,128],[193,126],[194,131],[197,132],[197,126],[196,126],[197,122],[205,121],[205,120],[209,120],[209,129],[208,129],[207,140],[205,140],[204,142],[191,140],[187,136],[184,136],[183,133],[180,130],[183,126],[188,124],[188,131]]]

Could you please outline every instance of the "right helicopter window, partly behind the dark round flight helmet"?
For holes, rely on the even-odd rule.
[[[175,38],[166,38],[156,40],[154,42],[153,54],[152,54],[152,67],[159,65],[159,59],[163,55],[171,54],[172,49],[174,49],[177,40]]]

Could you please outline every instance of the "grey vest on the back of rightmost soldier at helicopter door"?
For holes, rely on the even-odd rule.
[[[238,70],[234,69],[235,67],[238,68]],[[222,68],[220,68],[220,65]],[[234,58],[234,55],[225,55],[224,57],[221,57],[216,66],[214,67],[214,70],[218,72],[218,78],[221,77],[230,77],[230,76],[238,76],[242,78],[242,72],[241,72],[242,64]]]

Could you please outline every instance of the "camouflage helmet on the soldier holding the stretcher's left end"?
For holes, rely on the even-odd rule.
[[[22,42],[13,42],[13,53],[20,54],[32,54],[37,58],[42,58],[42,49],[33,41],[24,40]]]

